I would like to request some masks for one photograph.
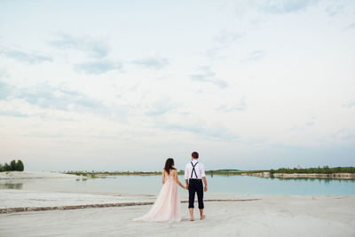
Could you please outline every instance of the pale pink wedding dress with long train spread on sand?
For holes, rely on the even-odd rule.
[[[165,184],[154,201],[153,207],[143,217],[133,221],[173,222],[181,220],[180,195],[173,176],[166,174]]]

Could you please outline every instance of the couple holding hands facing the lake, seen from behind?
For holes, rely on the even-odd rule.
[[[199,201],[200,217],[203,215],[203,185],[204,191],[207,191],[207,180],[204,166],[199,162],[199,154],[193,152],[191,162],[185,166],[185,183],[183,186],[177,178],[177,169],[174,168],[174,160],[169,158],[165,162],[164,170],[162,170],[162,190],[154,201],[153,207],[143,217],[133,219],[134,221],[156,221],[156,222],[171,222],[180,221],[180,196],[177,191],[177,185],[189,192],[189,212],[190,220],[193,221],[193,202],[195,193]]]

